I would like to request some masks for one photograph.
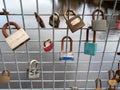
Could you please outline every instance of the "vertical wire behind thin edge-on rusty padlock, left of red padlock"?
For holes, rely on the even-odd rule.
[[[39,13],[39,4],[38,4],[38,0],[36,0],[36,9],[37,9],[37,13]],[[41,70],[41,82],[42,82],[42,90],[44,90],[44,76],[43,76],[43,63],[42,63],[42,49],[41,49],[41,38],[40,38],[40,35],[41,35],[41,29],[39,27],[39,24],[38,24],[38,39],[39,39],[39,54],[40,54],[40,70]]]

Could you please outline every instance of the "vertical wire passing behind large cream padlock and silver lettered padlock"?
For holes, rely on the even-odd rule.
[[[20,8],[21,8],[21,14],[22,14],[23,28],[25,29],[25,19],[24,19],[24,13],[23,13],[22,0],[20,0]],[[25,45],[26,45],[27,61],[30,62],[30,55],[29,55],[29,51],[28,51],[28,45],[27,45],[27,43]],[[30,82],[31,82],[31,90],[32,90],[33,89],[32,80],[30,80]]]

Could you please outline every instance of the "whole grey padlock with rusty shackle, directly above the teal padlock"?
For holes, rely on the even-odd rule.
[[[95,13],[96,12],[100,12],[102,15],[102,19],[101,20],[95,20]],[[102,10],[100,9],[96,9],[93,13],[92,13],[92,30],[93,31],[105,31],[107,29],[107,23],[105,20],[105,14]]]

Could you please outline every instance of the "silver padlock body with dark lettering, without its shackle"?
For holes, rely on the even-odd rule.
[[[40,77],[40,71],[36,68],[27,69],[27,75],[29,79],[36,79]]]

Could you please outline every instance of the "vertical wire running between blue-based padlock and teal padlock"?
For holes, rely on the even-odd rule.
[[[85,4],[86,0],[84,0],[84,6],[83,6],[83,12],[82,12],[82,20],[84,19],[84,14],[85,14]],[[75,73],[75,87],[77,86],[77,77],[78,77],[78,69],[79,69],[79,58],[80,58],[80,47],[81,47],[81,39],[82,39],[82,29],[80,30],[80,35],[79,35],[79,46],[78,46],[78,56],[77,56],[77,65],[76,65],[76,73]]]

